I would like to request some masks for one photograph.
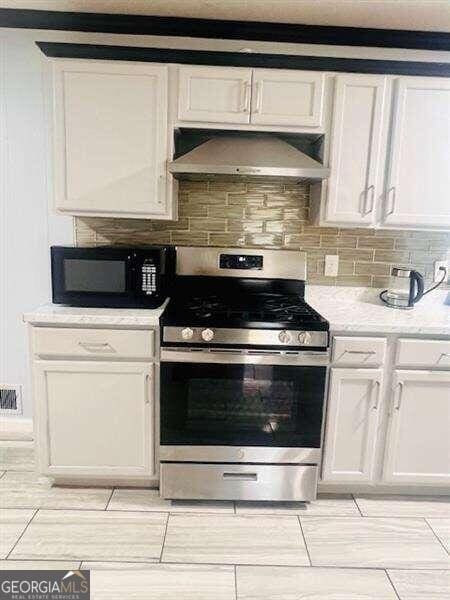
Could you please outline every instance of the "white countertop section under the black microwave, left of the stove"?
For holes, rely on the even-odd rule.
[[[155,309],[137,308],[78,308],[44,304],[25,313],[23,320],[33,325],[111,325],[157,327],[167,302]]]

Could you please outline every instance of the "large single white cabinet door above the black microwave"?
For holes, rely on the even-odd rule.
[[[170,218],[167,81],[166,66],[53,64],[58,211]]]

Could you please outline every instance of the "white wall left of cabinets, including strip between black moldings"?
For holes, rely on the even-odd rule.
[[[49,86],[35,40],[450,62],[450,52],[427,50],[0,29],[0,384],[24,386],[25,417],[32,402],[21,315],[50,299],[49,246],[73,242],[72,219],[50,209]]]

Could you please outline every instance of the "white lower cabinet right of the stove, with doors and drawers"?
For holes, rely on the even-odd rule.
[[[342,484],[343,490],[450,486],[448,343],[333,338],[322,483]],[[379,368],[358,368],[369,352]],[[340,368],[342,360],[348,368]],[[400,368],[416,364],[422,368]]]

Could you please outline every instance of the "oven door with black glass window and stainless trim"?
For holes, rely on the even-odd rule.
[[[162,461],[320,460],[327,352],[162,349]]]

